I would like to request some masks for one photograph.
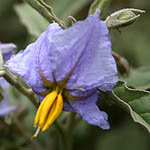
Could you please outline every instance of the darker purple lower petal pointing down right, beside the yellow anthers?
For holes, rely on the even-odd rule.
[[[80,93],[76,93],[78,96]],[[81,96],[81,95],[80,95]],[[77,112],[83,120],[87,121],[89,124],[94,126],[99,126],[102,129],[109,129],[108,116],[105,112],[100,111],[98,106],[96,105],[97,100],[97,92],[95,92],[92,96],[87,99],[80,101],[72,101],[69,103],[71,107],[64,103],[64,110]]]

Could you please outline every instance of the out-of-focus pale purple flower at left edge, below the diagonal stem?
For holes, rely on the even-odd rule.
[[[0,78],[0,86],[3,89],[6,89],[9,87],[9,84],[3,78]],[[8,97],[5,93],[3,93],[2,96],[3,96],[3,100],[0,102],[0,117],[4,117],[5,115],[16,110],[17,108],[17,105],[9,106]]]

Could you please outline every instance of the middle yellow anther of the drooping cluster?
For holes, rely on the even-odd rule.
[[[39,120],[39,126],[42,128],[43,125],[45,124],[45,121],[47,120],[47,115],[49,113],[49,110],[51,109],[52,104],[54,103],[55,99],[57,97],[57,91],[53,91],[50,94],[48,94],[44,98],[44,104],[41,109],[40,113],[40,120]]]

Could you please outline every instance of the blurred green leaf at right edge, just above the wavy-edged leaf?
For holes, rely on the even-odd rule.
[[[150,67],[131,69],[128,78],[121,77],[128,86],[147,90],[150,89]]]

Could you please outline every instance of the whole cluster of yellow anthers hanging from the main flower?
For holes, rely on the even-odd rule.
[[[45,131],[58,118],[62,109],[62,90],[57,87],[40,104],[35,116],[34,127],[38,124],[42,132]]]

